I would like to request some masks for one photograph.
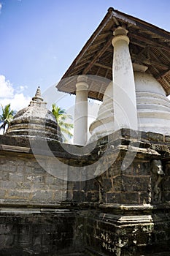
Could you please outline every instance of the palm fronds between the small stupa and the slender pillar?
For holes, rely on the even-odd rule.
[[[72,138],[72,132],[70,131],[73,128],[73,124],[66,123],[66,119],[72,119],[71,115],[66,113],[65,109],[61,109],[60,107],[56,106],[55,104],[52,105],[52,113],[55,116],[55,119],[61,128],[61,135],[63,137],[63,142],[68,142],[66,136]]]

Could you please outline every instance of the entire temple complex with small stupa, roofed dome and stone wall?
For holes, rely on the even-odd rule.
[[[0,135],[0,255],[170,255],[169,48],[109,8],[57,85],[76,95],[74,145],[40,88],[18,111]]]

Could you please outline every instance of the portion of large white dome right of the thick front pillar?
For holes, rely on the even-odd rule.
[[[138,129],[170,135],[170,101],[160,83],[150,74],[134,72]]]

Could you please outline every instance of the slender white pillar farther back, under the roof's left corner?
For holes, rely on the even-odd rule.
[[[85,146],[88,142],[88,78],[79,75],[76,84],[74,107],[74,144]]]

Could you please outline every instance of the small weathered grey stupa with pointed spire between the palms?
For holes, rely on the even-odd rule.
[[[44,138],[61,141],[61,130],[55,116],[46,108],[38,87],[27,108],[19,110],[10,122],[6,134],[27,138]]]

